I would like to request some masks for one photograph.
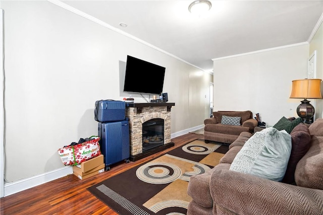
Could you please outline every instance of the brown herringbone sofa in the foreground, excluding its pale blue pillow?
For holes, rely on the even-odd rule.
[[[301,123],[290,135],[286,183],[229,170],[252,136],[242,132],[219,165],[191,177],[187,214],[323,214],[323,119],[308,128]]]

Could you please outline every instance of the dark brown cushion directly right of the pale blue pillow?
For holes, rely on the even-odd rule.
[[[303,123],[296,125],[291,132],[292,150],[289,157],[286,173],[282,182],[292,184],[295,182],[294,174],[296,165],[299,160],[306,154],[309,149],[311,135],[309,129]]]

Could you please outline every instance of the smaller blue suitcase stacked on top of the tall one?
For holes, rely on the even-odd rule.
[[[95,102],[94,119],[98,122],[122,121],[126,118],[126,102],[98,100]]]

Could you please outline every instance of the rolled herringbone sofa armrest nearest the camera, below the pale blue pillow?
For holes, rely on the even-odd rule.
[[[210,178],[216,206],[238,214],[323,214],[323,190],[294,186],[231,170]]]

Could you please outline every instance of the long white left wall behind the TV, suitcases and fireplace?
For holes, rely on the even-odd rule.
[[[1,6],[8,182],[64,167],[57,150],[97,134],[94,103],[124,97],[119,65],[128,54],[166,67],[164,92],[175,102],[173,136],[201,126],[208,116],[204,95],[212,76],[196,67],[49,2]],[[135,101],[143,99],[137,95]]]

